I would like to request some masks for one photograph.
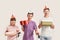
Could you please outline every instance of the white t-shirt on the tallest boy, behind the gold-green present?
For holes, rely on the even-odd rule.
[[[41,21],[50,21],[53,23],[53,20],[52,18],[48,17],[48,18],[42,18]],[[42,29],[41,29],[41,36],[51,36],[51,28],[50,26],[46,27],[46,26],[43,26]]]

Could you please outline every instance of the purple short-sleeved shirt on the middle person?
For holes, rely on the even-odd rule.
[[[34,40],[33,32],[37,29],[36,23],[30,21],[27,25],[24,25],[24,36],[23,40]]]

